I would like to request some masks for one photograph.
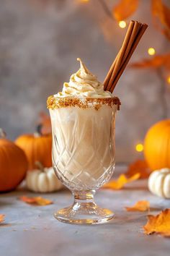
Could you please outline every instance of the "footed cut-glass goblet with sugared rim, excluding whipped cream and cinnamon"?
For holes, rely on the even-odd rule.
[[[53,168],[74,197],[73,205],[58,210],[55,218],[66,223],[107,222],[114,213],[100,208],[94,194],[108,182],[115,168],[115,114],[119,104],[114,98],[50,98],[49,102]]]

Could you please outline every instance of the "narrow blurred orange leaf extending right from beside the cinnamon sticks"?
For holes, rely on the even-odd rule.
[[[146,69],[153,68],[156,69],[158,67],[166,67],[166,69],[170,69],[169,64],[170,54],[157,55],[153,56],[153,58],[143,59],[142,61],[134,62],[130,64],[129,67],[137,68],[137,69]]]

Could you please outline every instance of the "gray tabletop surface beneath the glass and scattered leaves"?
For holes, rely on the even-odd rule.
[[[122,168],[116,168],[118,174]],[[32,206],[19,201],[21,195],[53,200],[53,205]],[[148,213],[127,212],[125,206],[138,200],[151,202],[151,214],[170,207],[170,200],[151,195],[145,180],[128,184],[125,189],[99,189],[96,202],[115,212],[115,219],[106,224],[78,226],[61,223],[53,217],[55,210],[71,205],[68,190],[35,194],[25,189],[0,195],[0,213],[6,215],[0,226],[1,256],[65,256],[170,255],[170,240],[158,235],[143,234]]]

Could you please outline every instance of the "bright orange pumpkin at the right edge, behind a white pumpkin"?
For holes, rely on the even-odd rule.
[[[170,119],[159,121],[148,130],[144,155],[151,170],[170,168]]]

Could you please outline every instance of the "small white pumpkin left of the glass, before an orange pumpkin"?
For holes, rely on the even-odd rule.
[[[53,192],[61,189],[63,184],[55,176],[53,167],[44,168],[40,162],[35,163],[38,169],[27,171],[27,188],[34,192]]]

